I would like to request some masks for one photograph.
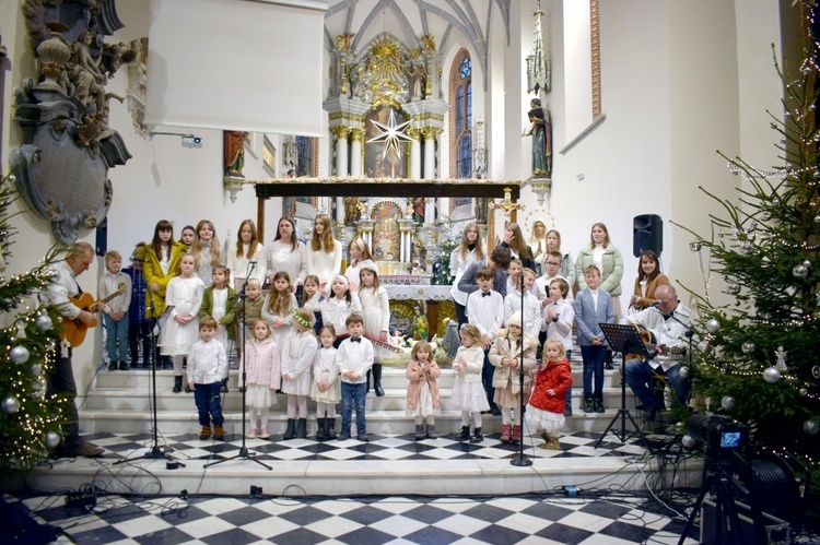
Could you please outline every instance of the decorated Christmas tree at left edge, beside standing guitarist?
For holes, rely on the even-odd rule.
[[[59,343],[54,318],[37,299],[47,289],[59,259],[49,254],[32,270],[2,275],[16,235],[10,220],[19,197],[13,177],[0,182],[0,479],[24,475],[60,441],[60,406],[46,393],[51,351]]]

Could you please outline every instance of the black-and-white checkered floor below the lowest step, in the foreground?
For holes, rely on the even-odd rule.
[[[671,544],[686,524],[660,501],[614,493],[578,499],[99,496],[87,510],[65,507],[61,496],[5,500],[68,534],[57,543],[69,543],[70,536],[77,543],[152,545]],[[686,543],[698,543],[696,534]]]

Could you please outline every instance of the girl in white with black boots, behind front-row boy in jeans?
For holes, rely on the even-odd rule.
[[[390,331],[390,299],[387,297],[387,291],[378,285],[376,264],[362,263],[359,268],[359,277],[361,281],[359,299],[364,318],[364,335],[386,343]],[[385,394],[382,388],[382,362],[390,357],[390,354],[387,348],[376,343],[373,344],[373,391],[378,398]],[[370,383],[370,380],[367,382]]]

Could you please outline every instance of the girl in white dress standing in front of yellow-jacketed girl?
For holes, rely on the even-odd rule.
[[[172,307],[160,335],[164,356],[174,359],[174,393],[183,391],[183,359],[199,340],[199,309],[204,284],[194,273],[194,256],[179,258],[179,275],[171,279],[165,291],[165,305]]]

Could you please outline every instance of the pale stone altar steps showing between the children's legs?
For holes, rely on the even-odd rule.
[[[573,365],[573,416],[566,418],[566,430],[597,431],[606,429],[621,406],[620,374],[605,372],[604,413],[584,413],[583,404],[583,371],[579,365]],[[237,390],[238,371],[231,369],[230,392],[223,398],[225,427],[238,431],[242,427],[242,394]],[[460,427],[460,412],[450,404],[450,392],[455,374],[452,369],[443,369],[438,380],[442,399],[442,413],[436,417],[437,427],[443,431],[454,431]],[[151,406],[149,395],[151,372],[145,369],[128,371],[103,370],[97,375],[94,388],[87,393],[80,410],[82,433],[128,433],[138,434],[152,429]],[[172,393],[173,371],[156,372],[156,407],[159,429],[163,434],[192,434],[199,425],[192,394]],[[407,378],[403,369],[384,368],[382,384],[385,395],[367,395],[366,413],[367,428],[374,434],[409,434],[413,430],[412,416],[406,415]],[[634,411],[634,395],[628,389],[626,407],[637,418]],[[270,424],[272,435],[281,435],[286,426],[286,395],[277,395],[271,407]],[[337,408],[338,411],[338,408]],[[488,433],[501,429],[501,418],[484,415],[483,425]],[[315,404],[308,401],[308,433],[315,433]]]

